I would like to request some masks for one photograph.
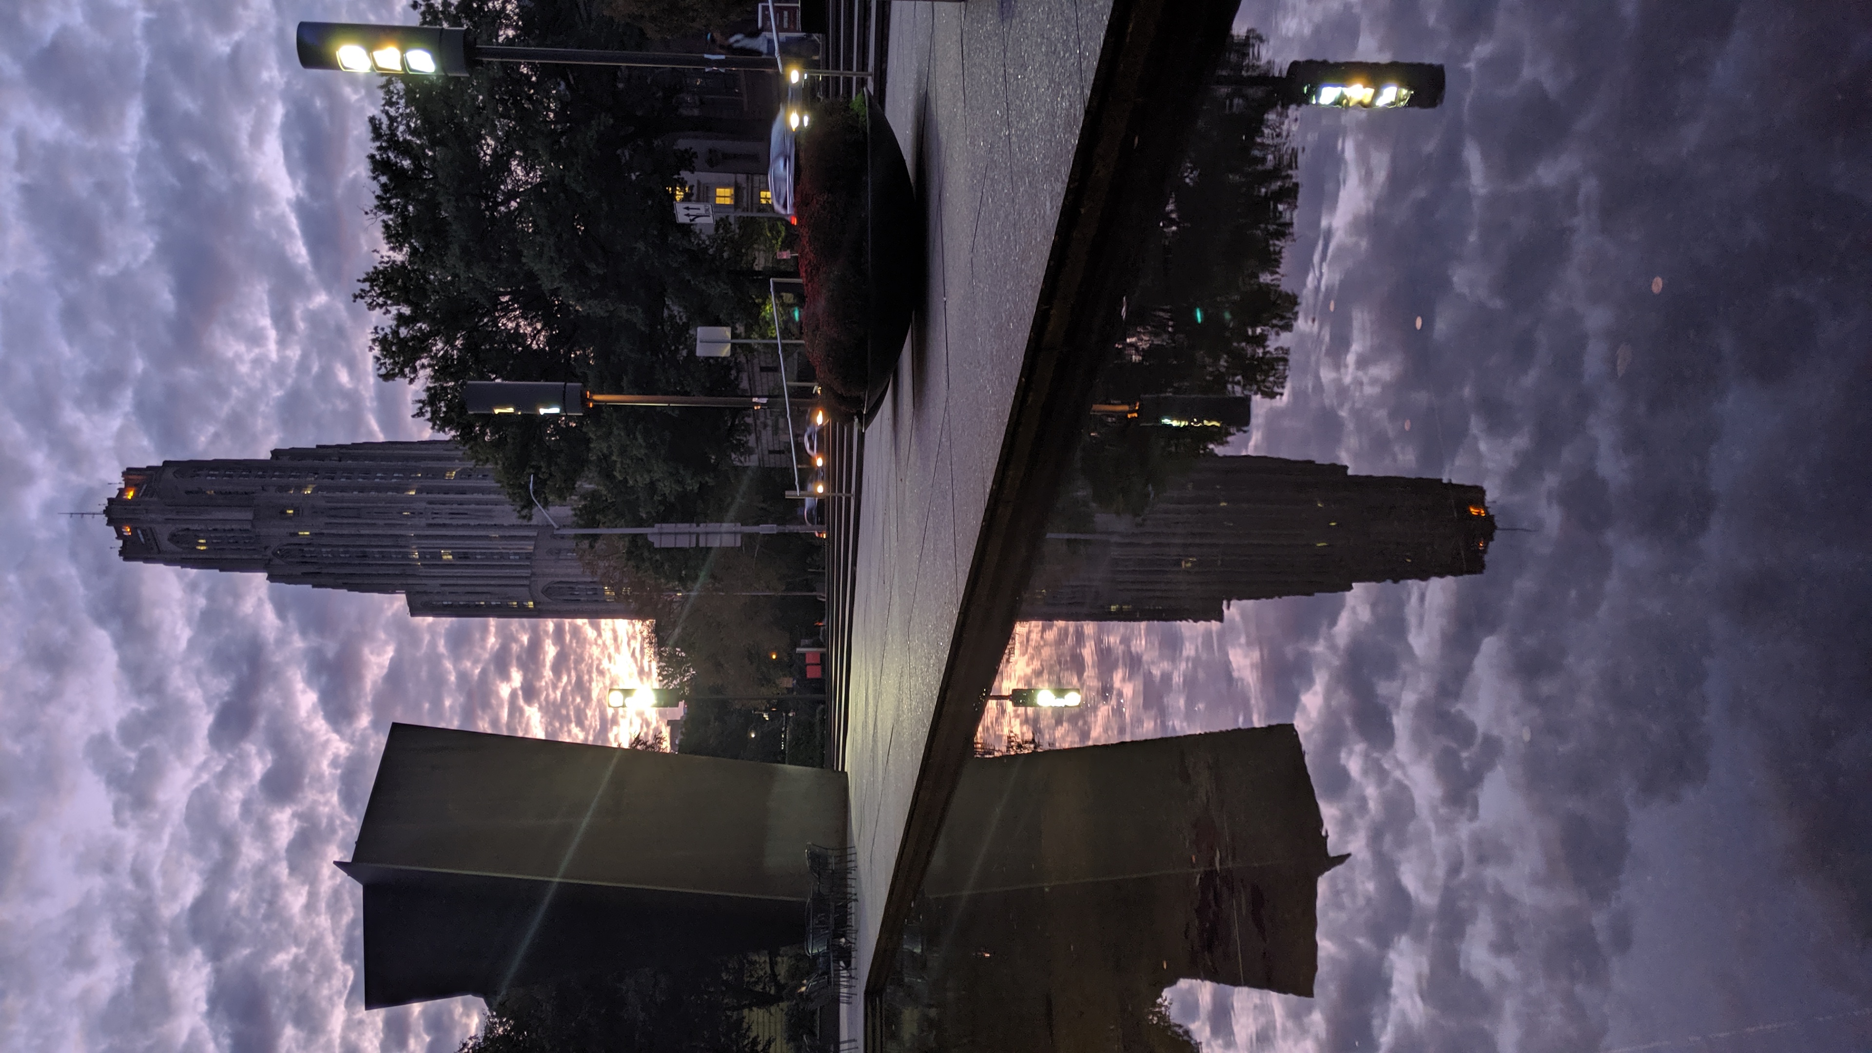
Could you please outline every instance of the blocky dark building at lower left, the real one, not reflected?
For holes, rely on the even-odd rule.
[[[397,723],[348,862],[365,1008],[805,939],[844,776]]]

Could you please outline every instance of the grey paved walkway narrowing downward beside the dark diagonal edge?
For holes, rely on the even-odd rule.
[[[1108,13],[1108,0],[891,11],[885,114],[929,208],[930,281],[865,433],[844,740],[861,986]]]

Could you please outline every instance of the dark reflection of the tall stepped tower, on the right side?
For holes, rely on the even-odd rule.
[[[1022,620],[1213,622],[1234,600],[1481,573],[1483,487],[1344,465],[1202,457],[1142,515],[1048,534]]]

